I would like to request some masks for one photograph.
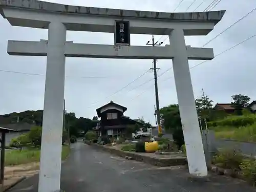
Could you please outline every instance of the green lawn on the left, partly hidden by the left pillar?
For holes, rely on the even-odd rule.
[[[69,155],[69,152],[69,146],[63,146],[61,159],[66,159]],[[7,151],[5,155],[5,165],[19,165],[38,161],[40,161],[40,150],[38,148],[31,148],[22,151],[11,150]]]

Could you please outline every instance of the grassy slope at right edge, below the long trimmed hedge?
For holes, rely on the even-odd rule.
[[[236,141],[256,142],[256,123],[241,127],[216,126],[211,127],[216,138]]]

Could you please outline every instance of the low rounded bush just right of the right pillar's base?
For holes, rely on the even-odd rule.
[[[240,169],[243,155],[236,150],[222,150],[214,156],[213,163],[228,169]]]

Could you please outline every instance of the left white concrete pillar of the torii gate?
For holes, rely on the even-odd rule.
[[[66,35],[62,23],[50,23],[38,192],[60,190]]]

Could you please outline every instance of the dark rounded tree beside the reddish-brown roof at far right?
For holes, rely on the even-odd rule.
[[[241,94],[232,95],[231,97],[233,99],[231,104],[234,106],[237,115],[243,115],[242,110],[249,104],[250,97]]]

